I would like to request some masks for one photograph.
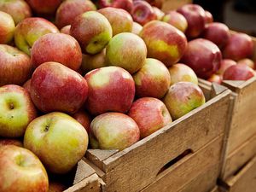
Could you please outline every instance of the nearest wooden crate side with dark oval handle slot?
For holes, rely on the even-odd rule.
[[[218,164],[231,91],[201,87],[208,101],[172,124],[119,152],[87,151],[86,158],[106,183],[102,191],[137,192],[166,177],[174,179],[172,191],[178,191]],[[216,171],[214,182],[209,181],[213,188],[219,165],[212,170]]]

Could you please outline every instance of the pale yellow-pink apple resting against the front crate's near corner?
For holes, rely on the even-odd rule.
[[[140,138],[136,122],[124,113],[102,113],[90,124],[92,148],[119,149],[130,147]]]

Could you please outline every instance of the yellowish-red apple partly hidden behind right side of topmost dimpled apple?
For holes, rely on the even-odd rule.
[[[98,12],[108,19],[112,26],[113,36],[120,32],[131,32],[133,20],[124,9],[108,7],[99,9]]]

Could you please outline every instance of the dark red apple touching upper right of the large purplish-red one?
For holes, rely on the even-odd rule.
[[[222,49],[230,38],[230,29],[223,23],[209,23],[202,34],[202,38],[206,38]]]

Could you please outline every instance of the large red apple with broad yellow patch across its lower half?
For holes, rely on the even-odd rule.
[[[148,22],[140,36],[147,45],[148,57],[162,61],[166,67],[180,60],[188,44],[183,32],[160,20]]]

